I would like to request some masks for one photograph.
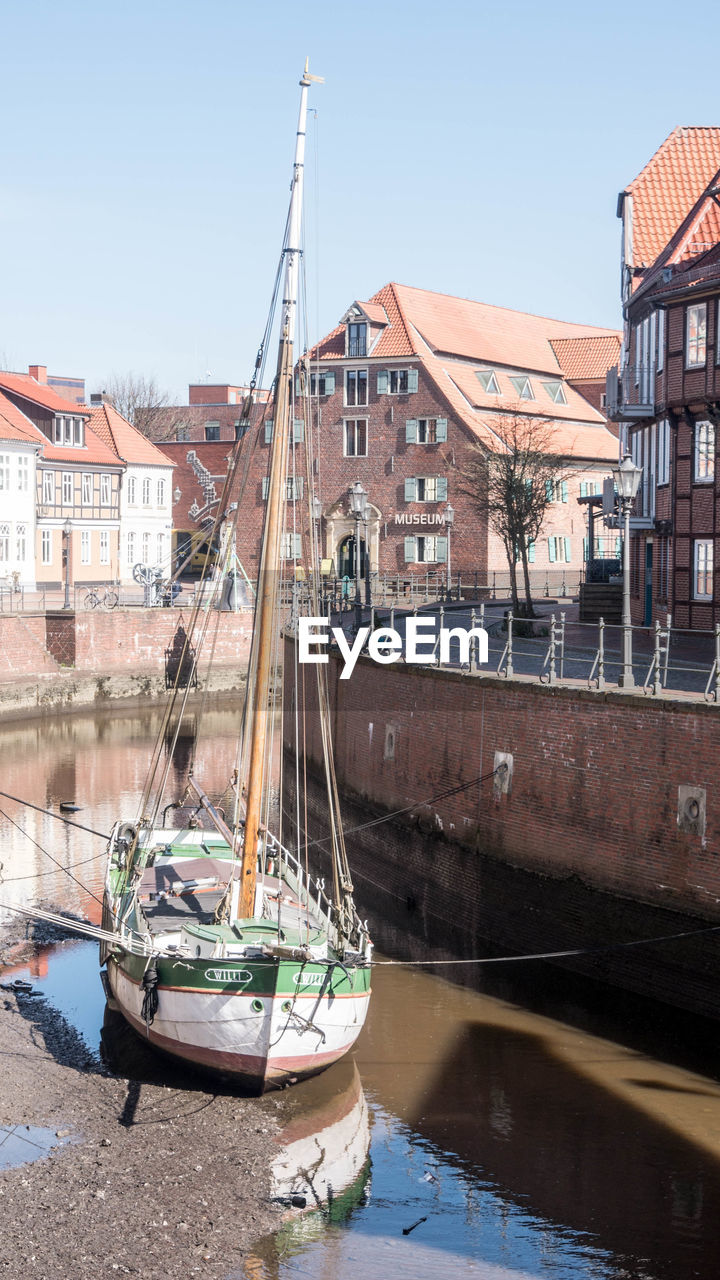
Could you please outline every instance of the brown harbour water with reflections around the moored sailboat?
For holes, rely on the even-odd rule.
[[[136,813],[159,723],[114,712],[5,727],[3,791],[55,813],[74,803],[105,832]],[[206,713],[213,751],[197,776],[210,792],[228,781],[234,730],[234,712]],[[29,900],[97,919],[102,840],[6,799],[0,809],[0,923]],[[537,968],[492,992],[442,972],[378,964],[356,1052],[286,1093],[286,1222],[232,1280],[720,1274],[715,1029]],[[94,945],[42,947],[17,975],[91,1053],[104,1023],[105,1053],[135,1044],[105,1011]]]

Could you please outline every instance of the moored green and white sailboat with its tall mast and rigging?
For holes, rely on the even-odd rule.
[[[168,765],[163,768],[161,749],[156,749],[140,817],[119,819],[110,835],[100,933],[105,989],[129,1027],[176,1059],[255,1092],[293,1083],[345,1055],[363,1028],[370,998],[372,942],[352,897],[329,713],[324,739],[333,878],[328,892],[324,881],[313,879],[302,849],[286,847],[268,819],[281,545],[296,408],[293,343],[305,120],[314,79],[306,64],[300,81],[283,268],[278,273],[282,305],[268,503],[232,795],[220,806],[196,781],[193,769],[188,781],[192,819],[172,826],[178,810],[173,804],[163,808]],[[231,472],[233,465],[231,460]],[[310,497],[310,485],[307,492]],[[232,503],[228,506],[232,509]],[[187,672],[191,639],[192,620],[178,672]],[[315,664],[314,673],[319,705],[327,712],[324,667]],[[178,676],[176,726],[188,684],[187,675],[184,681]],[[168,712],[167,719],[170,737],[172,714]]]

